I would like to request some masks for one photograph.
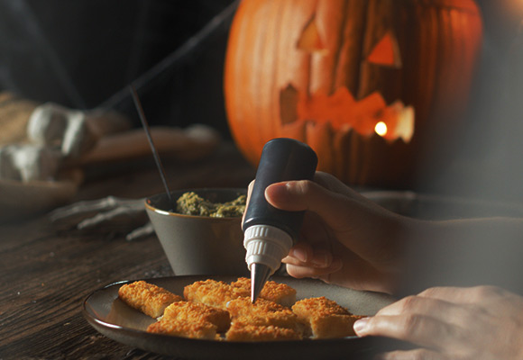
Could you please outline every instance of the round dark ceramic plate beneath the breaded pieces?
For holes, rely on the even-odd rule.
[[[183,294],[185,285],[213,278],[227,283],[233,276],[173,276],[142,279],[172,293]],[[372,315],[393,302],[387,294],[358,292],[310,279],[273,276],[271,280],[289,284],[297,290],[297,299],[326,296],[359,315]],[[271,342],[226,342],[178,338],[150,334],[145,331],[155,320],[135,311],[118,299],[120,282],[107,285],[87,296],[83,305],[84,316],[101,334],[131,347],[154,353],[190,359],[289,359],[289,358],[354,358],[361,359],[389,341],[381,338],[340,338],[328,340],[295,340]]]

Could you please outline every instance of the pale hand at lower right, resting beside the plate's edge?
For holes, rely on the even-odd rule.
[[[354,330],[419,346],[380,359],[521,359],[523,297],[492,286],[430,288],[356,321]]]

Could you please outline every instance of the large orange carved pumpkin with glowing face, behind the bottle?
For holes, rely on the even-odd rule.
[[[266,141],[290,137],[346,183],[407,184],[425,148],[458,130],[481,40],[473,0],[243,1],[225,59],[229,128],[254,165]]]

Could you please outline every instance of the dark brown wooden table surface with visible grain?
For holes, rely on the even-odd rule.
[[[171,190],[246,187],[255,174],[227,141],[211,157],[164,159],[163,165]],[[86,174],[74,202],[163,191],[151,158],[87,168]],[[53,224],[46,214],[0,225],[0,359],[166,358],[100,335],[81,313],[87,295],[106,284],[172,275],[156,236],[127,241],[130,229],[84,233]]]

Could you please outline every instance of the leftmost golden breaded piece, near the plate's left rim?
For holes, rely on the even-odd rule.
[[[122,285],[118,289],[118,297],[127,305],[151,318],[160,317],[171,303],[183,300],[179,295],[144,281]]]

